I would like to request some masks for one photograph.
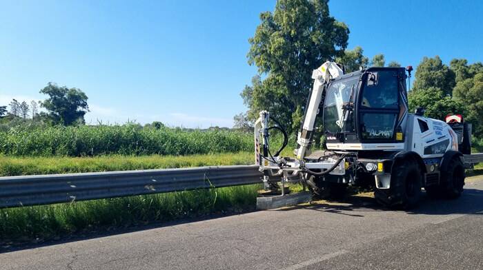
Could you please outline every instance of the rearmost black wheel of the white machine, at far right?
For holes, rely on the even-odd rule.
[[[445,174],[441,177],[441,189],[445,198],[454,199],[460,197],[464,186],[464,165],[460,158],[453,158]]]

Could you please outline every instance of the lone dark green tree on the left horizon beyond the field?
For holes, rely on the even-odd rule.
[[[84,115],[89,112],[88,97],[77,88],[59,87],[55,83],[48,83],[40,90],[41,94],[49,96],[41,102],[54,123],[72,125],[77,121],[84,123]]]

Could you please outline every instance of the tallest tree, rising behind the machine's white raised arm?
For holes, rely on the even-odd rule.
[[[279,0],[260,20],[248,40],[248,63],[259,75],[241,94],[247,117],[253,121],[268,110],[291,132],[299,125],[295,112],[305,106],[312,70],[343,55],[349,31],[329,15],[327,0]]]

